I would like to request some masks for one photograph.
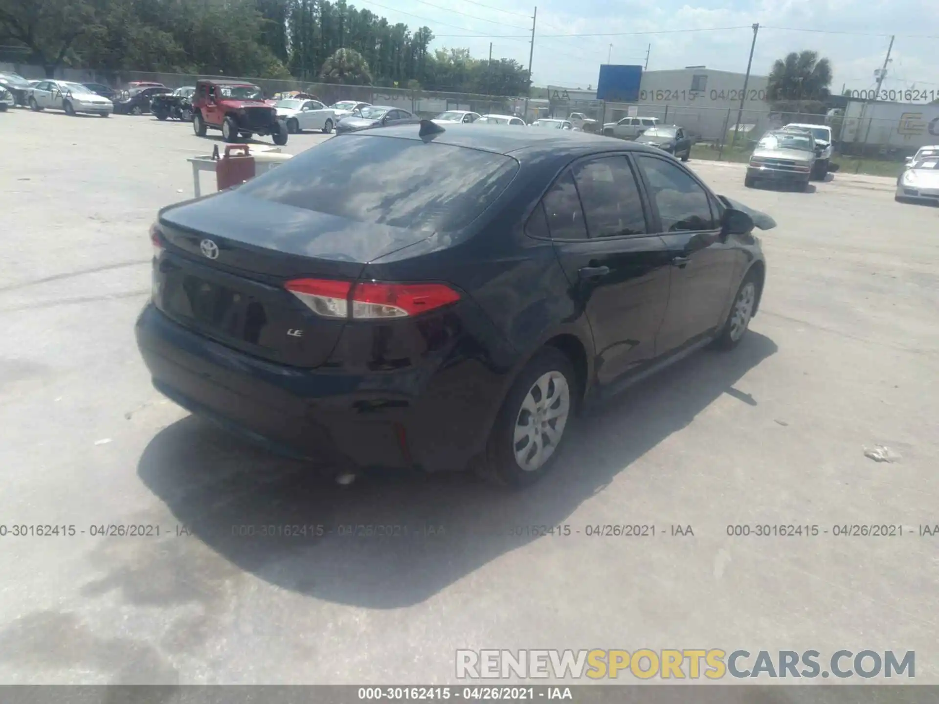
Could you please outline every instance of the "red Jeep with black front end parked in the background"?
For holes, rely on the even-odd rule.
[[[222,130],[225,142],[237,142],[239,134],[270,135],[275,145],[287,143],[287,128],[277,111],[264,101],[256,85],[237,81],[197,81],[192,95],[192,130],[200,137],[208,128]]]

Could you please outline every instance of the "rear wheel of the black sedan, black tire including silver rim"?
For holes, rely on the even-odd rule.
[[[544,477],[570,435],[569,426],[577,411],[579,391],[571,360],[554,347],[542,349],[506,394],[477,472],[488,482],[516,488],[529,486]],[[552,412],[558,415],[538,420],[544,418],[542,414]],[[541,423],[540,437],[532,424],[538,422]],[[529,427],[532,430],[526,433]],[[548,438],[548,428],[556,433],[553,443]],[[546,449],[546,458],[534,456]],[[522,462],[531,464],[525,468]]]

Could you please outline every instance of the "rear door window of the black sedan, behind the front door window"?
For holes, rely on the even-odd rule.
[[[590,237],[643,235],[648,232],[639,186],[624,157],[580,164],[574,178]]]

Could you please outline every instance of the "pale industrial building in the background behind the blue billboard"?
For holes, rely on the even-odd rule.
[[[588,94],[567,89],[571,100],[564,104],[552,99],[551,106],[555,116],[571,112],[592,113],[604,122],[616,122],[627,115],[657,117],[666,124],[681,125],[699,139],[716,140],[736,124],[742,96],[741,129],[756,125],[759,131],[766,126],[769,115],[766,102],[768,78],[751,74],[747,81],[747,94],[743,95],[745,79],[744,73],[702,66],[643,71],[639,100],[635,103],[608,102],[603,105],[597,101],[595,91]],[[550,86],[549,91],[551,97],[558,92],[555,86]]]

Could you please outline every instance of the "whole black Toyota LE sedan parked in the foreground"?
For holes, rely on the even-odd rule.
[[[163,208],[137,342],[158,390],[272,450],[524,485],[584,402],[740,342],[774,225],[652,147],[351,132]]]

